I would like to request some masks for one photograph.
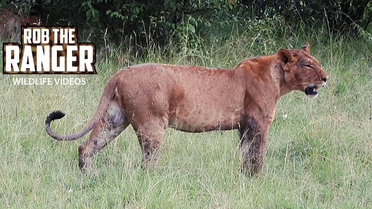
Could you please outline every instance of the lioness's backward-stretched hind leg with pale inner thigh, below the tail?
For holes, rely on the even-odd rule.
[[[90,170],[93,155],[115,139],[128,125],[121,107],[112,100],[105,116],[94,126],[89,138],[78,147],[80,169]]]

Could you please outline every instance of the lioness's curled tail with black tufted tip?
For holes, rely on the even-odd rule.
[[[108,83],[105,86],[105,89],[103,90],[101,99],[99,100],[99,104],[97,107],[96,112],[94,113],[93,117],[86,123],[84,128],[82,128],[79,132],[75,134],[68,134],[68,135],[58,135],[52,131],[50,128],[50,123],[53,120],[61,119],[65,116],[65,113],[55,110],[54,112],[50,113],[47,116],[47,119],[45,120],[45,130],[54,139],[60,140],[60,141],[72,141],[76,140],[78,138],[81,138],[82,136],[86,135],[90,130],[93,129],[94,125],[96,125],[97,122],[100,121],[100,119],[103,117],[103,114],[106,112],[110,100],[113,98],[115,94],[115,89],[118,84],[117,74],[113,75],[112,78],[108,81]]]

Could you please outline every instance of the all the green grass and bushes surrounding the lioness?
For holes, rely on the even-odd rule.
[[[345,24],[338,19],[344,2],[359,8],[365,1],[64,2],[42,1],[42,21],[77,25],[79,41],[97,46],[98,75],[68,75],[86,78],[85,86],[15,86],[14,77],[39,76],[0,76],[0,208],[372,207],[370,1],[362,17]],[[35,1],[13,3],[1,6],[37,12]],[[77,166],[77,147],[87,136],[64,143],[44,131],[54,109],[67,113],[52,124],[56,132],[81,128],[121,67],[230,68],[306,42],[330,82],[315,100],[301,92],[279,99],[256,177],[239,172],[236,131],[168,129],[159,166],[145,172],[128,127],[94,157],[90,176]]]

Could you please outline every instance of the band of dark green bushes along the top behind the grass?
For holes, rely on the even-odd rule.
[[[211,41],[209,31],[231,25],[258,29],[260,36],[302,24],[365,37],[372,30],[371,0],[6,0],[6,4],[16,6],[22,15],[39,12],[48,25],[77,25],[91,39],[132,38],[145,47],[150,42],[160,46],[173,42],[196,49]]]

